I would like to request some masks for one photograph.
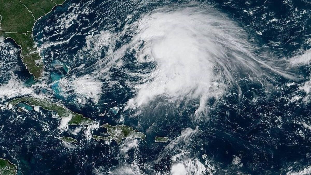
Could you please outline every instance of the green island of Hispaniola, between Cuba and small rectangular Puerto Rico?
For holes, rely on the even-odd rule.
[[[141,132],[138,132],[138,130],[133,130],[133,127],[129,127],[126,125],[101,125],[100,127],[106,128],[107,133],[110,136],[104,137],[104,136],[98,136],[93,135],[93,139],[99,141],[99,140],[115,140],[117,144],[120,144],[123,139],[128,138],[141,138],[142,140],[145,139],[146,135],[144,135]]]

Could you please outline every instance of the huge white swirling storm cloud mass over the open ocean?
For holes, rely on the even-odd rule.
[[[283,68],[288,62],[258,48],[247,31],[212,8],[157,9],[127,23],[120,33],[129,33],[132,39],[112,57],[119,59],[130,52],[139,69],[147,65],[145,69],[151,70],[132,72],[142,81],[136,83],[130,108],[165,96],[171,101],[199,99],[198,113],[206,110],[210,97],[220,97],[239,78],[273,79],[271,75],[277,74],[295,79]]]

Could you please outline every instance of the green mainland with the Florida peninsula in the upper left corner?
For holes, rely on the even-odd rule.
[[[12,38],[21,47],[29,73],[40,79],[44,63],[33,39],[35,22],[65,0],[0,0],[0,40]]]

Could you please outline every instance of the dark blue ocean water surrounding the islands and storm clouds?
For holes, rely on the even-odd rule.
[[[128,100],[135,97],[126,80],[141,79],[129,76],[125,70],[150,72],[156,67],[154,64],[137,67],[130,53],[122,58],[122,67],[113,66],[109,70],[109,78],[100,78],[103,92],[98,102],[86,98],[86,103],[80,105],[73,90],[63,92],[61,79],[92,73],[98,69],[95,64],[109,54],[108,47],[101,47],[96,53],[81,52],[87,35],[104,30],[120,32],[126,27],[128,15],[134,22],[156,8],[185,4],[213,7],[225,13],[249,33],[250,42],[259,43],[258,50],[269,50],[279,59],[289,59],[310,49],[306,40],[311,34],[311,3],[307,0],[66,1],[40,19],[33,31],[46,65],[44,83],[33,81],[20,61],[20,51],[16,50],[11,57],[0,51],[1,62],[6,63],[0,69],[1,84],[9,82],[13,75],[8,70],[13,70],[26,87],[38,85],[34,93],[51,96],[54,102],[99,121],[100,125],[132,126],[145,133],[146,139],[138,140],[137,146],[125,152],[131,140],[121,145],[114,141],[104,144],[104,141],[86,140],[87,126],[82,126],[77,135],[71,132],[76,126],[61,132],[60,120],[49,111],[3,109],[0,111],[0,155],[18,165],[18,174],[121,174],[129,169],[132,174],[169,174],[172,163],[182,158],[184,164],[192,163],[196,168],[198,163],[193,162],[198,160],[207,168],[206,174],[286,174],[310,166],[311,130],[301,123],[308,124],[311,106],[303,101],[306,93],[299,90],[299,83],[309,80],[309,66],[299,67],[301,78],[290,86],[286,84],[293,83],[292,80],[278,75],[275,75],[276,81],[266,79],[273,86],[270,89],[259,80],[239,79],[243,93],[235,93],[238,87],[233,86],[219,101],[211,98],[211,108],[202,121],[193,120],[197,101],[181,102],[176,107],[165,97],[159,97],[138,115],[135,115],[137,111],[126,110]],[[278,21],[269,22],[272,19]],[[125,34],[115,43],[114,50],[131,39],[131,35]],[[18,48],[11,40],[4,42],[8,46],[1,47],[3,50]],[[83,68],[77,69],[81,64]],[[55,69],[55,65],[64,68]],[[109,81],[116,83],[106,83]],[[293,101],[297,96],[301,98]],[[5,98],[3,104],[10,99],[12,97]],[[105,111],[106,115],[100,117]],[[97,129],[93,134],[104,131]],[[167,136],[176,144],[155,143],[154,137],[158,135]],[[64,145],[58,140],[59,136],[71,136],[79,142]],[[182,158],[174,160],[173,157],[180,154]],[[238,165],[232,163],[235,157],[240,158]],[[187,158],[193,162],[187,162]],[[210,167],[214,169],[208,169]]]

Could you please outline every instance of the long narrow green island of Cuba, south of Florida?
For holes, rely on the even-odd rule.
[[[51,103],[47,100],[35,97],[21,97],[16,98],[8,102],[8,105],[16,106],[20,102],[25,102],[29,106],[39,106],[45,110],[56,111],[58,116],[61,118],[70,117],[70,121],[68,121],[68,125],[89,125],[94,123],[94,121],[90,118],[83,117],[82,114],[77,114],[75,112],[70,111],[65,106],[58,103]]]

